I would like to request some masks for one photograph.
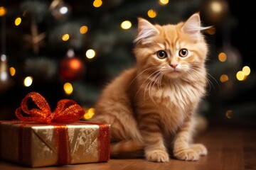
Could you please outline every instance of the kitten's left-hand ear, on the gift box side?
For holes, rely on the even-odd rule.
[[[146,44],[149,42],[149,38],[157,34],[159,34],[159,30],[149,23],[149,21],[146,21],[143,18],[138,18],[138,35],[134,42],[142,42],[142,44]]]

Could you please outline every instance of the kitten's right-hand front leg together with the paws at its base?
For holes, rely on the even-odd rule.
[[[189,145],[191,140],[191,120],[186,121],[176,134],[174,140],[174,157],[183,161],[197,161],[201,155],[207,154],[207,149],[202,144]]]

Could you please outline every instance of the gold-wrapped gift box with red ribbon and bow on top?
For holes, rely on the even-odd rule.
[[[31,167],[110,159],[110,125],[78,121],[84,111],[73,101],[58,103],[51,113],[41,97],[29,94],[23,99],[21,108],[16,110],[20,120],[0,121],[1,159]],[[38,108],[28,109],[24,104],[28,98],[32,98]]]

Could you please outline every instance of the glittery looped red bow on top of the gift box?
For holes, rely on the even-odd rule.
[[[31,98],[38,108],[28,109],[27,101]],[[21,110],[29,116],[23,116]],[[58,101],[57,108],[52,113],[50,106],[41,94],[31,92],[21,101],[21,107],[16,109],[16,116],[19,120],[37,123],[75,123],[85,111],[75,101],[62,99]]]

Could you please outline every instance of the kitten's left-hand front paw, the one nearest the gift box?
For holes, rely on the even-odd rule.
[[[169,154],[161,149],[147,151],[145,157],[149,162],[169,162]]]

